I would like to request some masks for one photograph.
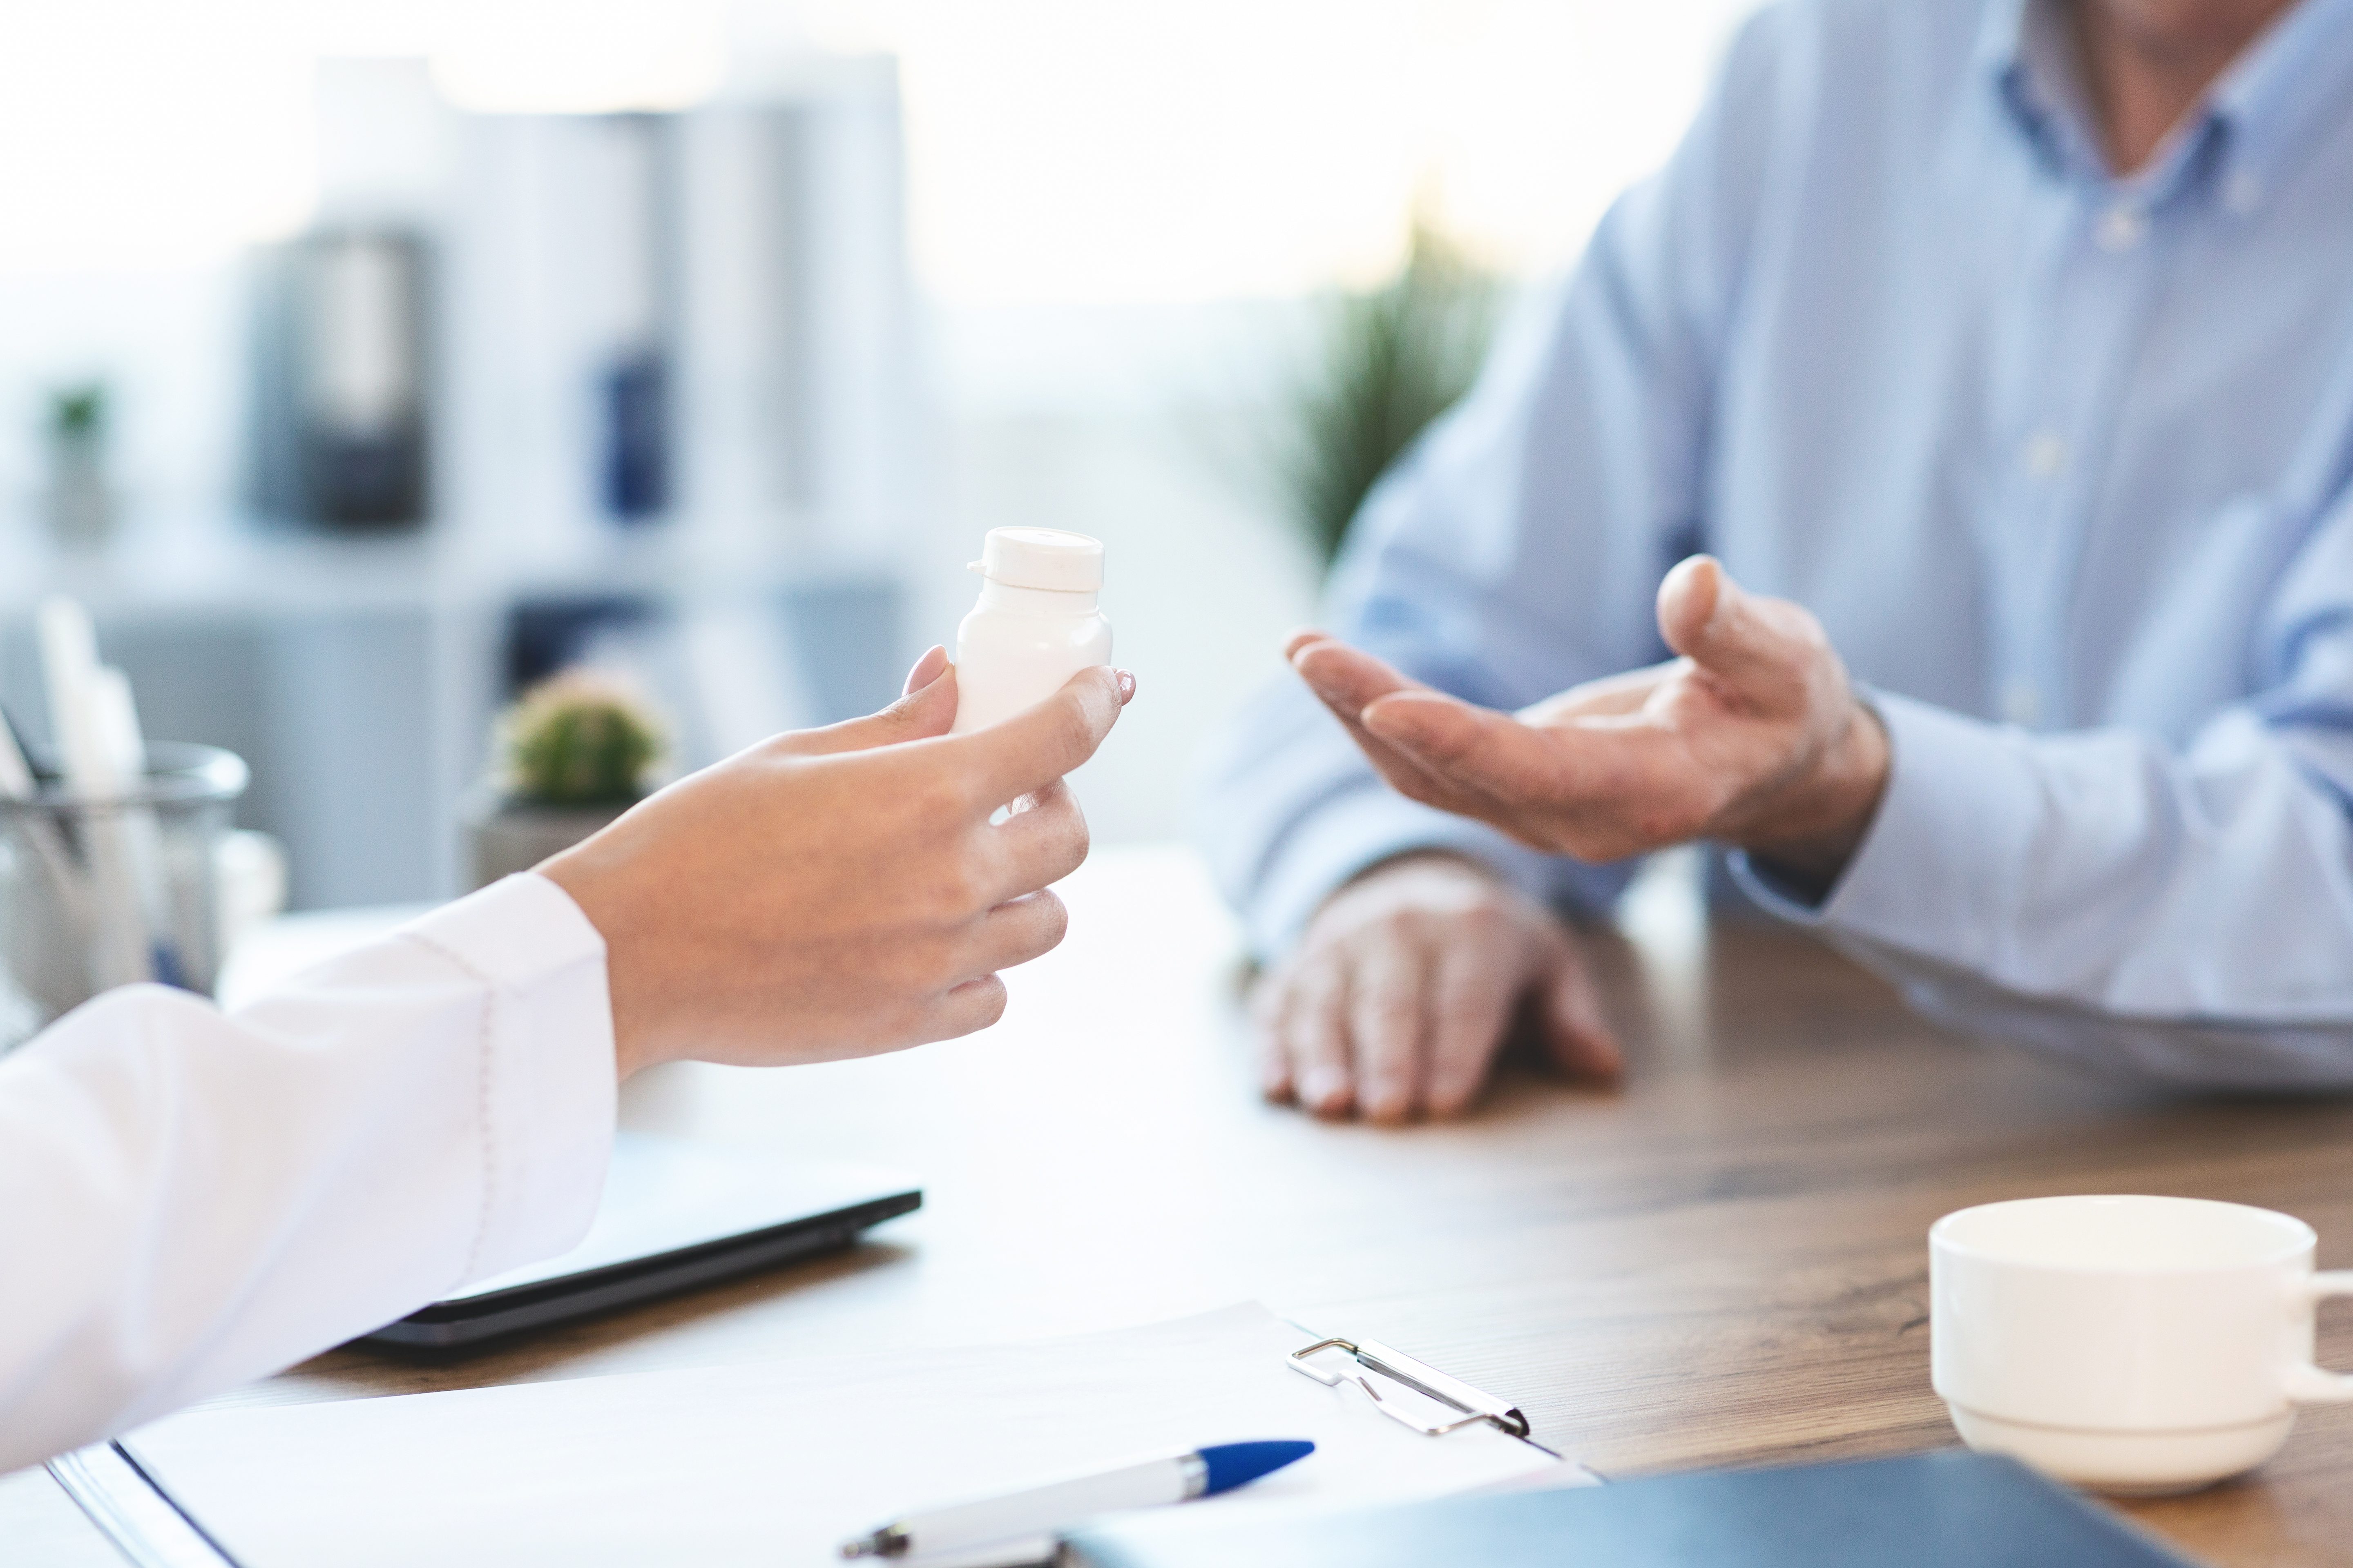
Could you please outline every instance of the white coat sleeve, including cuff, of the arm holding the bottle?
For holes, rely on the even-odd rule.
[[[108,992],[0,1063],[0,1472],[572,1246],[605,943],[508,877],[221,1013]]]

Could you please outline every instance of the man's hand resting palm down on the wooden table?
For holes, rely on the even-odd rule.
[[[1562,1070],[1617,1077],[1569,929],[1473,860],[1400,856],[1332,893],[1259,980],[1261,1086],[1318,1117],[1459,1117],[1522,1009]]]

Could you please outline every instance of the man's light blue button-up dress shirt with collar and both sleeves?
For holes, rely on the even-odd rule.
[[[1894,771],[1819,905],[1911,1001],[2144,1077],[2353,1084],[2353,0],[2151,167],[2052,12],[1758,14],[1671,165],[1372,494],[1329,625],[1518,708],[1666,654],[1692,550],[1821,616]],[[1297,679],[1209,759],[1261,952],[1358,870],[1628,867],[1388,792]]]

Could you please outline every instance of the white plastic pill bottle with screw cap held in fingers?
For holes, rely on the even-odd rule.
[[[981,602],[955,628],[955,726],[986,729],[1111,663],[1111,621],[1096,609],[1104,543],[1061,529],[988,529]]]

